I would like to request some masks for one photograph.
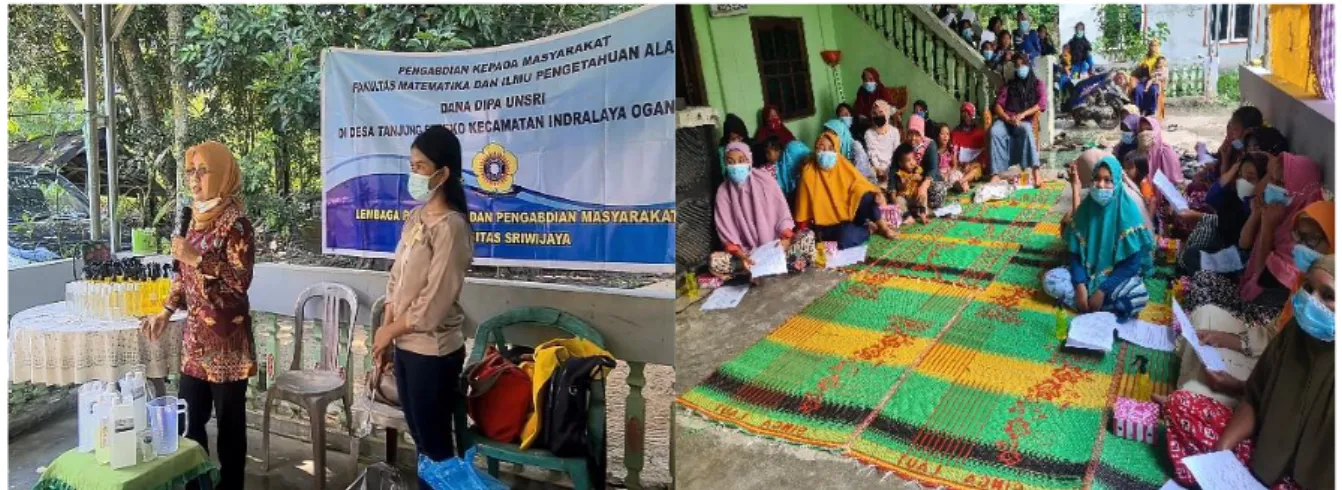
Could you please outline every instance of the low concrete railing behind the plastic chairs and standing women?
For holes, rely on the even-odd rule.
[[[64,285],[74,279],[72,260],[58,260],[42,264],[17,267],[9,271],[9,313],[28,307],[59,302],[64,299]],[[360,295],[360,317],[357,324],[369,325],[372,303],[386,289],[386,273],[310,267],[279,263],[256,264],[250,291],[252,310],[259,315],[255,322],[258,356],[262,358],[262,376],[274,377],[275,366],[287,368],[293,356],[291,334],[285,334],[279,318],[291,320],[298,294],[318,282],[334,282],[354,289]],[[475,329],[484,320],[506,310],[522,306],[550,306],[582,318],[596,328],[607,341],[607,349],[629,365],[625,397],[624,463],[628,470],[625,483],[631,489],[641,487],[639,475],[644,466],[646,401],[643,375],[647,364],[674,365],[675,362],[675,306],[672,291],[619,290],[601,287],[580,287],[546,285],[499,279],[467,278],[462,290],[462,307],[466,310],[467,337],[474,338]],[[305,311],[309,320],[318,320],[321,310],[313,302]],[[303,345],[317,346],[313,336],[319,329],[306,328]],[[290,330],[291,332],[291,330]],[[531,344],[552,338],[550,330],[510,329],[509,340]],[[366,332],[361,337],[368,341]],[[286,342],[287,341],[287,342]],[[357,350],[366,350],[364,345]],[[365,353],[366,354],[366,353]],[[267,362],[267,356],[272,356]],[[307,358],[307,356],[305,356]],[[356,361],[356,380],[360,371],[370,366],[366,356]],[[255,383],[254,383],[255,384]]]

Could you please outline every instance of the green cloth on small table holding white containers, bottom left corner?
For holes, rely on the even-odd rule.
[[[177,452],[121,470],[99,464],[93,452],[66,451],[47,466],[36,490],[172,490],[197,478],[219,482],[219,469],[195,440],[183,438]]]

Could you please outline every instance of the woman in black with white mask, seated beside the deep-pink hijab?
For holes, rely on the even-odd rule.
[[[1178,266],[1185,274],[1202,270],[1202,252],[1215,254],[1225,247],[1237,246],[1240,232],[1249,219],[1251,203],[1255,197],[1259,179],[1267,175],[1268,156],[1249,153],[1231,172],[1221,173],[1221,180],[1212,184],[1206,193],[1206,204],[1215,213],[1200,213],[1197,226],[1182,243]],[[1229,183],[1225,180],[1229,179]],[[1190,213],[1197,211],[1189,209]],[[1244,254],[1241,250],[1240,254]]]

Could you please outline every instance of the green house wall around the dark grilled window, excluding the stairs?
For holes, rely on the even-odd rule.
[[[820,59],[820,51],[835,48],[831,5],[750,5],[749,15],[710,17],[709,5],[691,5],[694,32],[703,63],[703,82],[709,103],[719,117],[737,114],[754,133],[764,109],[764,89],[756,68],[754,39],[750,36],[750,17],[800,17],[805,30],[807,52],[811,66],[811,90],[815,94],[816,114],[786,121],[797,138],[811,145],[820,134],[820,126],[833,118],[839,105],[833,97],[833,75]],[[721,129],[721,128],[719,128]]]

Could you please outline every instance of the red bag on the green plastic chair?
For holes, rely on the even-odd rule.
[[[466,409],[476,431],[498,442],[518,440],[531,413],[531,376],[490,346],[462,377],[467,384]]]

